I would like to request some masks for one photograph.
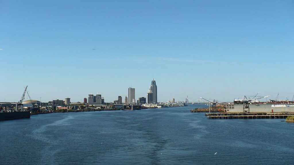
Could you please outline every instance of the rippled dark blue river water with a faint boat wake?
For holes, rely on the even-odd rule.
[[[0,164],[294,164],[294,123],[207,119],[196,106],[1,121]]]

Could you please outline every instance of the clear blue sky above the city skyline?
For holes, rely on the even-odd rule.
[[[0,102],[292,100],[294,1],[0,0],[0,62]]]

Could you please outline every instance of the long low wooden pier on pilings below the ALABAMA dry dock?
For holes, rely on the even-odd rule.
[[[209,113],[205,116],[209,119],[285,119],[288,116],[294,116],[294,113]]]

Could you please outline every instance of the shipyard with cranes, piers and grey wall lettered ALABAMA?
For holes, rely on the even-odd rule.
[[[269,95],[258,97],[258,94],[252,99],[243,96],[243,99],[226,103],[216,100],[209,101],[200,97],[208,101],[209,107],[195,108],[190,112],[209,112],[205,114],[208,119],[285,119],[294,116],[294,95],[292,101],[277,100],[277,96],[275,100],[260,102],[259,99],[269,97]]]

